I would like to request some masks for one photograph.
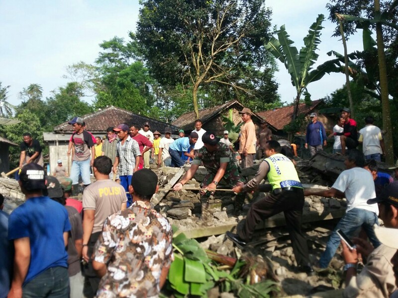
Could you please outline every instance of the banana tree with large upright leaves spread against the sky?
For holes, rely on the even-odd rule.
[[[340,72],[340,69],[334,63],[322,64],[318,68],[312,69],[319,56],[315,51],[320,43],[320,31],[323,28],[322,22],[324,19],[324,15],[319,14],[316,21],[309,27],[308,34],[303,39],[304,47],[300,49],[300,52],[293,46],[294,42],[289,39],[290,36],[285,30],[285,25],[281,26],[280,30],[276,32],[278,39],[272,37],[265,43],[265,48],[285,65],[291,75],[292,84],[296,87],[297,95],[294,103],[293,120],[298,116],[300,96],[304,91],[308,92],[308,84],[319,80],[326,73]]]

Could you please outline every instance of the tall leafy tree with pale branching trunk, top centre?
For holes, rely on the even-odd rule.
[[[198,92],[222,84],[250,93],[245,70],[267,69],[262,39],[269,34],[271,10],[263,0],[142,0],[137,38],[148,67],[160,84]]]

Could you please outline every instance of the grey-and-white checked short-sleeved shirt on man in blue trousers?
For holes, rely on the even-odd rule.
[[[137,141],[130,136],[127,137],[123,145],[121,145],[121,141],[119,140],[116,146],[116,156],[119,157],[119,175],[130,176],[134,172],[135,157],[141,156],[141,152]]]

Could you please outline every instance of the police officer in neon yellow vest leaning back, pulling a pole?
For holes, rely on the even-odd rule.
[[[236,193],[255,190],[266,177],[270,183],[260,188],[261,191],[270,191],[270,193],[253,203],[246,220],[239,223],[238,233],[227,231],[226,236],[238,246],[244,246],[252,238],[257,224],[275,214],[284,212],[298,270],[313,274],[307,241],[301,231],[304,206],[302,185],[298,179],[295,165],[280,152],[281,145],[277,141],[268,141],[265,147],[267,158],[261,162],[256,176],[243,187],[236,186],[232,189]]]

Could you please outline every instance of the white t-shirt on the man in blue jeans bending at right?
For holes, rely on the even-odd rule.
[[[376,198],[372,174],[360,167],[342,171],[333,188],[344,192],[347,199],[347,212],[353,208],[365,209],[379,215],[377,204],[369,205],[369,199]]]

